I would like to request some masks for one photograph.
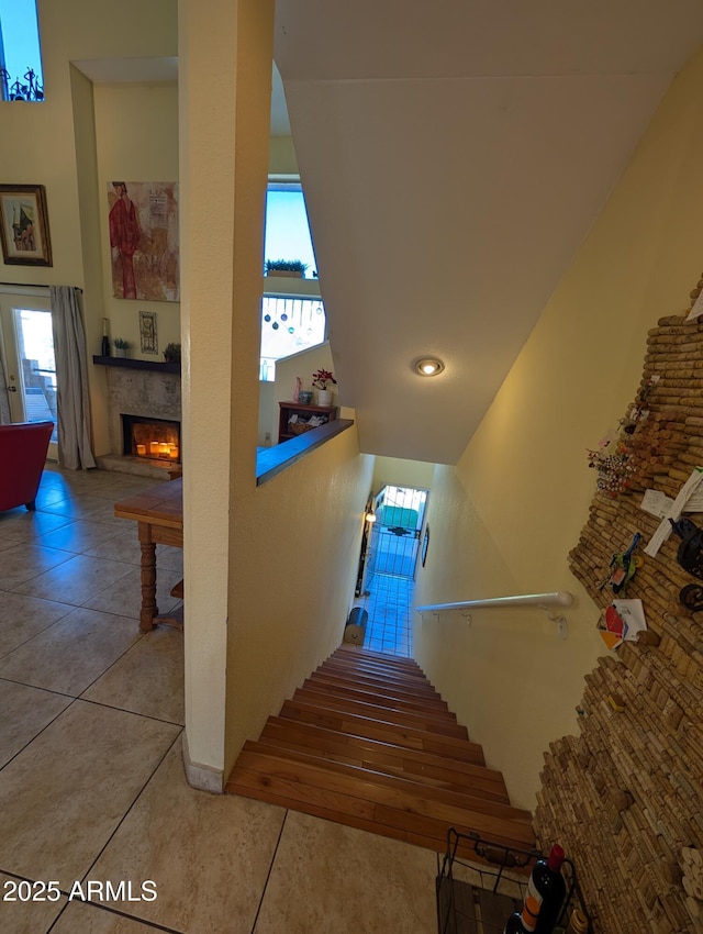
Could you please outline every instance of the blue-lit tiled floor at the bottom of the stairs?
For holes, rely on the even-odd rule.
[[[367,597],[354,601],[369,619],[364,647],[389,655],[412,657],[412,603],[415,581],[390,574],[375,574]]]

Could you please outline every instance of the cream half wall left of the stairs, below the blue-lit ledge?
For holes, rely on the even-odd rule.
[[[228,772],[245,740],[337,646],[354,602],[373,457],[356,426],[235,492],[227,656]]]

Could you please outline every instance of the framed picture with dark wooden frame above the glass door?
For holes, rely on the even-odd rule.
[[[9,266],[52,266],[43,185],[0,185],[0,243]]]

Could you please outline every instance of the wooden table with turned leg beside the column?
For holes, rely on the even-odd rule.
[[[156,605],[156,546],[183,547],[183,481],[157,483],[114,504],[118,519],[137,523],[142,547],[142,610],[140,629],[148,632],[158,622]]]

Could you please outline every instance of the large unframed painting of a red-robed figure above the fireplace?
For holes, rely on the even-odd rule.
[[[178,184],[111,181],[108,204],[113,296],[179,301]]]

